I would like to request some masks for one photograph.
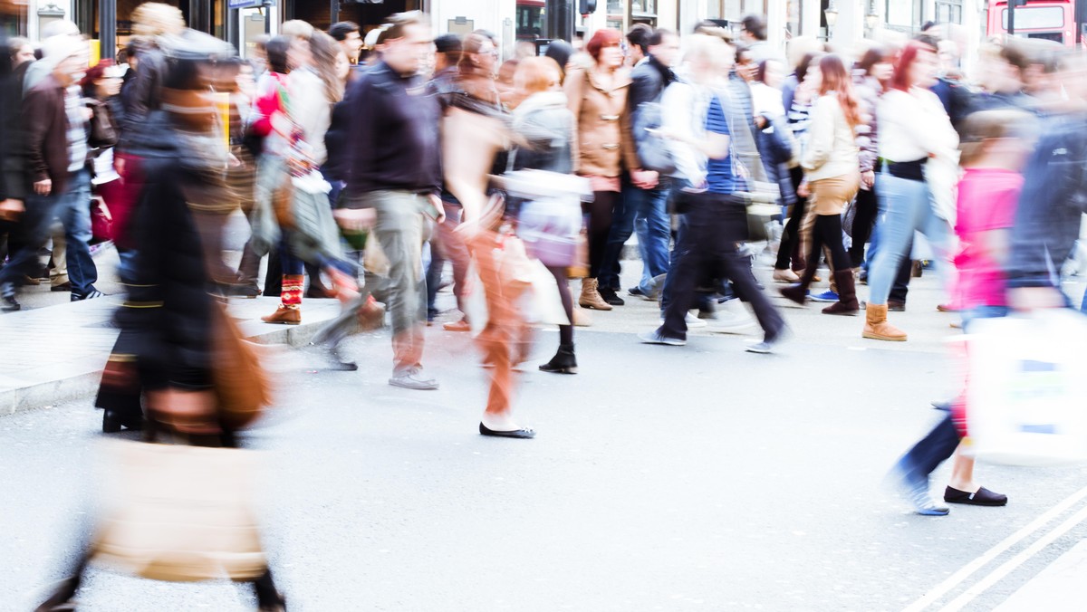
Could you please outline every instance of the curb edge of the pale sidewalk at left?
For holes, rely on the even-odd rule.
[[[245,310],[262,304],[265,300],[248,301],[249,304],[246,304],[248,308]],[[239,321],[238,325],[246,338],[257,344],[304,346],[310,342],[310,339],[326,321],[339,312],[338,302],[335,300],[322,300],[322,302],[325,303],[316,301],[307,303],[305,314],[309,321],[300,325],[272,326],[259,320]],[[67,371],[63,376],[26,386],[0,389],[0,417],[57,405],[97,394],[107,359],[109,359],[108,353],[60,363],[57,369]]]

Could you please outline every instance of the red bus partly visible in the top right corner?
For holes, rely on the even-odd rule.
[[[1008,0],[989,0],[989,36],[1008,34]],[[1076,47],[1083,42],[1087,0],[1020,0],[1015,36],[1045,38]]]

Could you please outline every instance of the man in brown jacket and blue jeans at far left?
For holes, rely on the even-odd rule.
[[[98,298],[98,270],[90,257],[90,174],[87,163],[89,109],[80,103],[78,80],[87,66],[87,47],[75,37],[46,41],[42,61],[52,73],[23,99],[26,168],[30,191],[18,232],[24,248],[0,271],[0,310],[18,310],[15,286],[37,264],[38,248],[59,218],[67,241],[72,301]]]

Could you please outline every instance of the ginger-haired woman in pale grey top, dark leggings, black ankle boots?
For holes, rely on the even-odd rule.
[[[562,72],[551,58],[522,60],[513,77],[524,101],[513,111],[514,170],[541,170],[559,174],[574,171],[574,116],[566,108],[562,92]],[[539,253],[538,258],[546,259]],[[574,299],[570,292],[566,270],[573,261],[544,261],[559,285],[567,325],[559,326],[559,352],[540,365],[544,372],[576,374],[574,354]]]

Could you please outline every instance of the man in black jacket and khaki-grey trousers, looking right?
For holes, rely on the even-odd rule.
[[[389,260],[393,370],[389,384],[437,389],[423,374],[426,280],[422,275],[426,216],[443,218],[438,100],[425,92],[420,70],[433,47],[420,17],[393,15],[383,55],[351,86],[348,207],[373,227]]]

